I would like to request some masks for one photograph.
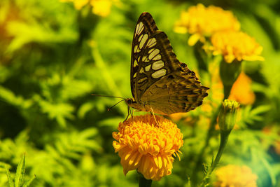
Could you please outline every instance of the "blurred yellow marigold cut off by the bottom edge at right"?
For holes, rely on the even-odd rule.
[[[257,187],[258,176],[250,167],[227,165],[216,170],[216,187]]]

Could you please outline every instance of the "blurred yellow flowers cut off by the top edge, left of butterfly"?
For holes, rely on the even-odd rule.
[[[92,13],[106,17],[111,12],[111,6],[113,4],[113,0],[59,0],[61,2],[73,2],[75,8],[80,10],[86,4],[90,4],[92,6]]]

